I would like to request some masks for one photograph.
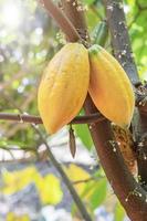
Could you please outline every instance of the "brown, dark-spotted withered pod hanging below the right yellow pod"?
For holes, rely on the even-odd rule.
[[[118,127],[117,125],[112,125],[112,128],[126,166],[134,176],[137,176],[138,168],[136,155],[133,149],[134,141],[132,133],[128,129]]]

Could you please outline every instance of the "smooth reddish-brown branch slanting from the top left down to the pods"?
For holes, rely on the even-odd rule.
[[[69,39],[71,39],[71,42],[76,42],[81,39],[73,24],[63,14],[62,10],[52,2],[52,0],[40,0],[40,2],[57,24],[60,23],[60,28],[64,33],[66,33]]]

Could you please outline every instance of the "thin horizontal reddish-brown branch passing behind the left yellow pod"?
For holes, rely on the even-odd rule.
[[[28,114],[9,114],[0,113],[0,119],[2,120],[13,120],[19,123],[32,123],[32,124],[42,124],[42,119],[39,116],[28,115]],[[69,124],[94,124],[96,122],[104,120],[105,117],[99,113],[95,113],[87,116],[77,116]]]

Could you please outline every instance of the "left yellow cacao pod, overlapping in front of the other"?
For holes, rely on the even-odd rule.
[[[49,62],[38,91],[39,112],[50,134],[80,112],[88,84],[87,50],[80,43],[67,43]]]

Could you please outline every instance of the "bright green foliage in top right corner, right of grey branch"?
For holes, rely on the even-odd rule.
[[[145,1],[128,1],[128,28],[132,40],[132,46],[141,80],[147,80],[147,4]],[[141,7],[141,9],[139,8]]]

